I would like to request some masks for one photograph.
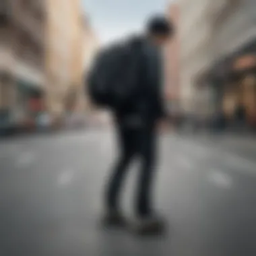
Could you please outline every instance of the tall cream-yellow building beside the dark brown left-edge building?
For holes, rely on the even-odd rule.
[[[46,102],[52,117],[62,119],[82,86],[84,21],[79,0],[46,2]]]

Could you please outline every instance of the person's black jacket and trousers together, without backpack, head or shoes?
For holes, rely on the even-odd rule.
[[[106,207],[118,210],[119,194],[127,168],[137,157],[141,162],[135,198],[138,216],[152,214],[151,190],[156,158],[156,122],[164,115],[162,104],[162,67],[160,53],[149,40],[143,38],[143,63],[141,63],[141,94],[131,106],[115,113],[121,155],[115,164],[106,191]]]

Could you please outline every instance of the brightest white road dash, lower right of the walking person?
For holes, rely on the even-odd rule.
[[[222,189],[230,189],[234,184],[230,175],[220,170],[212,170],[208,174],[208,179],[210,183],[216,185],[217,187],[221,187]]]

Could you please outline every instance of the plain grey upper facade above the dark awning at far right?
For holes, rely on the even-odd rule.
[[[222,2],[222,8],[212,20],[214,60],[234,53],[256,37],[256,2],[254,0],[222,0]]]

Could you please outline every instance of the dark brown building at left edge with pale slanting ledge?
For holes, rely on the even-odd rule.
[[[0,5],[0,123],[11,127],[43,108],[46,7],[26,0]]]

